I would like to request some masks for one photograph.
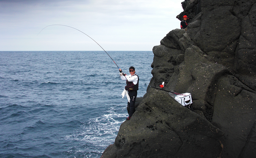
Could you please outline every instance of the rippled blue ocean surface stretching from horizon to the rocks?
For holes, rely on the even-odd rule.
[[[152,78],[152,51],[107,51]],[[100,157],[128,117],[125,81],[104,51],[0,51],[0,157]]]

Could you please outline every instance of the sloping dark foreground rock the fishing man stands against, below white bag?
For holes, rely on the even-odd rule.
[[[151,88],[125,121],[115,143],[102,157],[218,157],[224,133],[176,102],[168,92]]]

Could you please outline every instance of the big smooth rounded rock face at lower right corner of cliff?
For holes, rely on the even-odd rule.
[[[256,94],[248,90],[249,87],[231,75],[223,76],[218,84],[211,123],[225,132],[219,138],[224,146],[223,157],[239,157],[253,129]]]

